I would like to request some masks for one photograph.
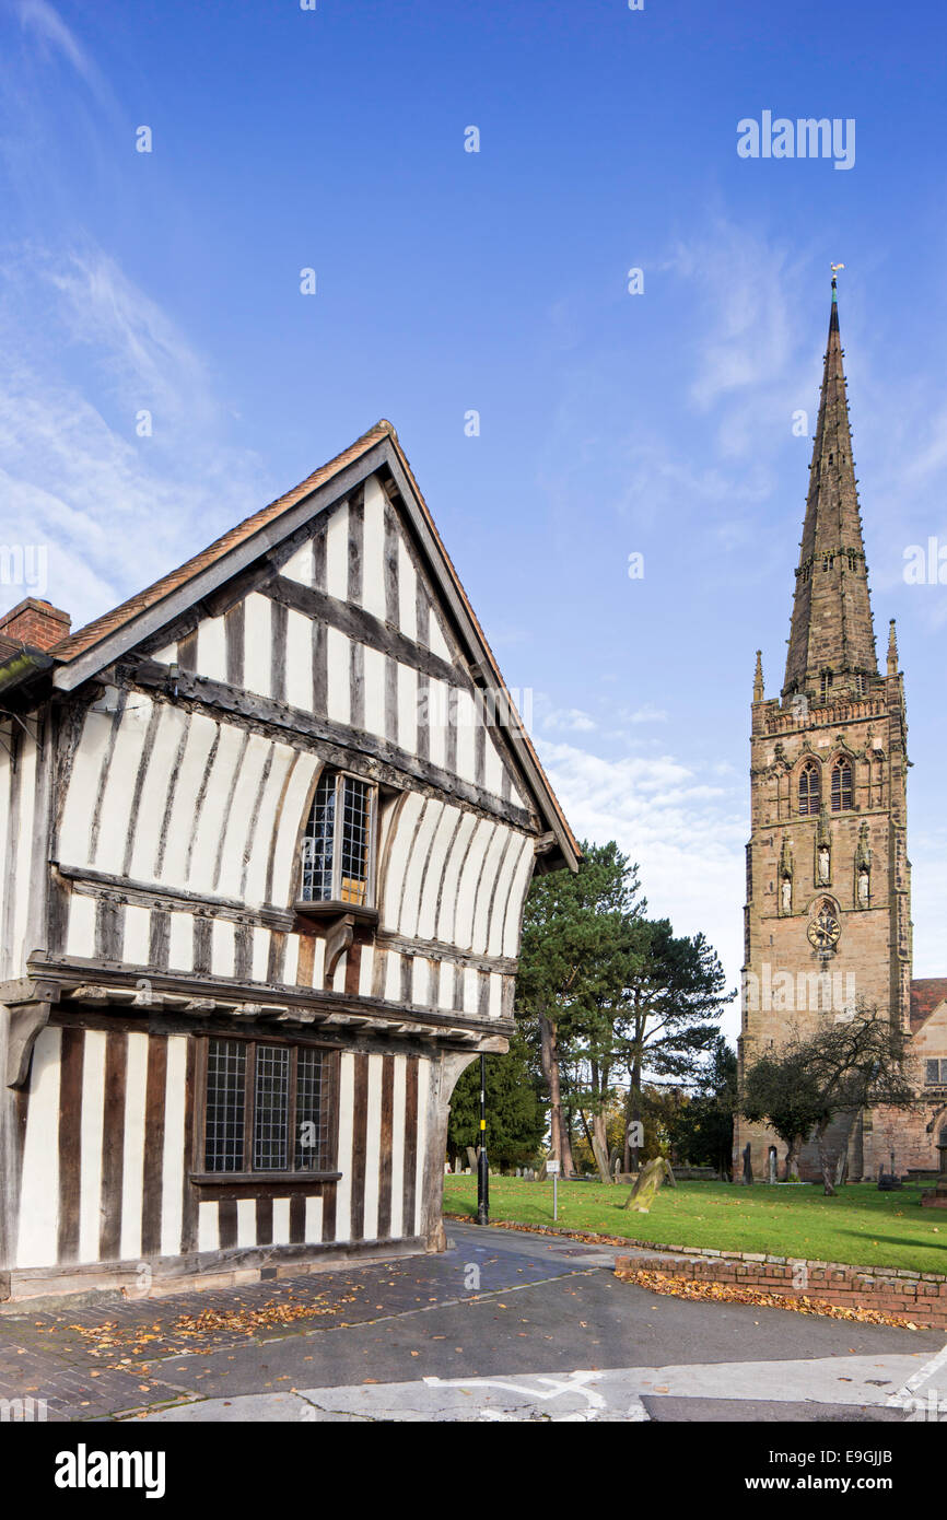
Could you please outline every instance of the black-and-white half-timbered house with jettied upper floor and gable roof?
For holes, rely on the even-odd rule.
[[[0,620],[0,1297],[442,1245],[578,848],[378,423],[68,632]]]

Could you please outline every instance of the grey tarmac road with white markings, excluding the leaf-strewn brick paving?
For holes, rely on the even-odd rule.
[[[144,1418],[900,1423],[947,1414],[936,1332],[658,1297],[613,1275],[626,1249],[453,1222],[448,1236],[444,1256],[401,1262],[397,1274],[385,1265],[330,1274],[348,1287],[363,1280],[357,1315],[344,1322],[161,1360],[155,1371],[175,1403]],[[325,1287],[330,1275],[306,1281]]]

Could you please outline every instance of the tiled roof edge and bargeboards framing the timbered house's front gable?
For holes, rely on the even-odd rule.
[[[398,435],[385,418],[292,491],[231,527],[201,553],[137,596],[55,644],[49,651],[56,664],[53,684],[68,692],[91,679],[378,470],[394,482],[394,491],[415,529],[430,576],[442,594],[474,675],[497,693],[497,720],[511,742],[537,810],[553,836],[553,857],[561,856],[575,871],[579,847],[532,740],[523,728],[500,667],[401,450]]]

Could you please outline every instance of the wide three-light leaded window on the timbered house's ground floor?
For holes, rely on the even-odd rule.
[[[208,1040],[204,1170],[325,1170],[331,1061],[315,1046]]]

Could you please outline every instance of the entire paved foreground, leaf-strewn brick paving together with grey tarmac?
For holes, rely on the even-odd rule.
[[[935,1385],[935,1417],[947,1401],[935,1332],[658,1297],[613,1275],[626,1248],[448,1230],[438,1257],[3,1315],[0,1397],[144,1421],[904,1421]],[[105,1322],[108,1347],[84,1335]]]

